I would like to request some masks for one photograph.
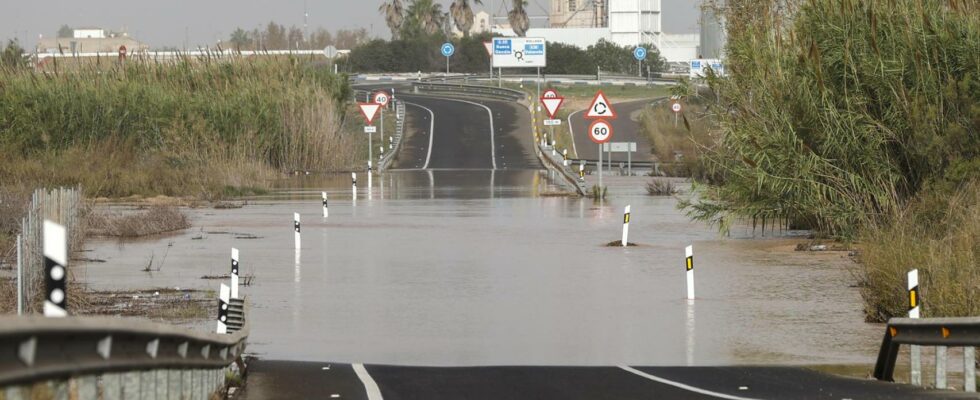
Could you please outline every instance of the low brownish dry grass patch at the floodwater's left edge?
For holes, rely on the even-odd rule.
[[[190,220],[174,206],[153,206],[136,213],[93,213],[88,220],[88,232],[97,236],[141,237],[173,232],[191,227]]]

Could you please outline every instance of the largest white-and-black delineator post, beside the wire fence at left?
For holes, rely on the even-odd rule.
[[[68,316],[68,232],[44,220],[44,316]]]

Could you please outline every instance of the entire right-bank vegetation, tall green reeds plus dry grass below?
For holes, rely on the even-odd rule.
[[[715,5],[718,6],[718,5]],[[859,244],[868,319],[980,307],[980,3],[737,0],[723,6],[728,77],[709,76],[710,179],[682,203]],[[764,228],[763,228],[764,229]]]

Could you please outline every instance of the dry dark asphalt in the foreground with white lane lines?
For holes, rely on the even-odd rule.
[[[243,399],[976,399],[792,367],[400,367],[253,360]]]

